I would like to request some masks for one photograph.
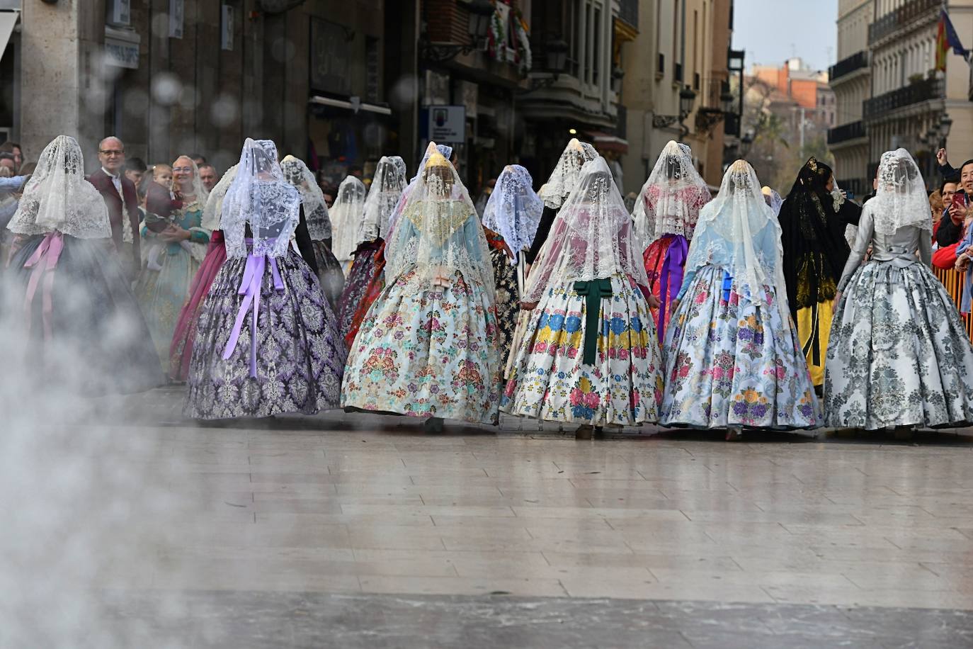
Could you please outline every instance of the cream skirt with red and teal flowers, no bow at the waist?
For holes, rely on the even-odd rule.
[[[454,272],[430,287],[407,270],[362,322],[344,370],[342,406],[495,423],[500,354],[481,286]]]

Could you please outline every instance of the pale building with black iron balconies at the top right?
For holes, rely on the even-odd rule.
[[[939,182],[940,146],[960,162],[973,150],[970,68],[950,53],[946,72],[935,69],[944,7],[960,38],[968,39],[973,0],[847,0],[840,6],[839,50],[845,57],[832,68],[831,83],[841,123],[829,133],[829,143],[840,173],[862,192],[871,191],[879,160],[890,149],[908,149],[930,188]],[[952,125],[948,132],[944,123]]]

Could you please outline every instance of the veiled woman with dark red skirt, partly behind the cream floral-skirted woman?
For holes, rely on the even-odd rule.
[[[338,306],[339,331],[342,336],[351,329],[355,309],[361,304],[369,283],[378,270],[376,253],[383,237],[388,234],[388,220],[395,209],[402,190],[406,188],[406,162],[398,156],[382,156],[375,169],[372,187],[365,198],[365,213],[361,221],[355,261],[348,272],[348,281]]]

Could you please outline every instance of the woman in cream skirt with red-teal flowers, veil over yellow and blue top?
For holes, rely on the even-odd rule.
[[[500,355],[486,237],[449,161],[433,154],[387,247],[387,286],[348,355],[342,406],[495,423]]]

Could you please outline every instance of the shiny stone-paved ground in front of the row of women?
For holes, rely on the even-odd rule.
[[[90,548],[103,569],[64,584],[97,592],[118,646],[973,643],[961,431],[578,442],[337,411],[200,427],[181,399],[103,402],[58,451],[128,472],[85,487],[90,527],[101,498],[127,511],[88,530],[111,538],[106,561]]]

